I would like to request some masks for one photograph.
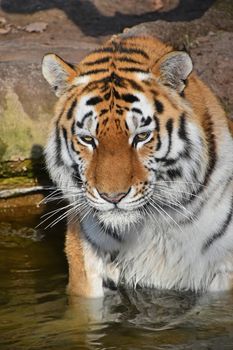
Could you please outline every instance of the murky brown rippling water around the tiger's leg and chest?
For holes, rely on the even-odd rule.
[[[233,349],[233,294],[120,290],[70,299],[64,226],[0,224],[0,350]]]

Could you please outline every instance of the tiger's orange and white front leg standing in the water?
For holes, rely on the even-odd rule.
[[[65,252],[69,266],[67,292],[71,295],[95,298],[102,297],[103,262],[83,238],[77,223],[69,223],[66,232]]]

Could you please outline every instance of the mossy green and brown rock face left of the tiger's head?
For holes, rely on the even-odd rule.
[[[65,41],[58,46],[55,40],[53,45],[25,38],[1,42],[0,161],[38,158],[43,152],[56,102],[41,74],[44,54],[56,52],[75,62],[97,47]]]

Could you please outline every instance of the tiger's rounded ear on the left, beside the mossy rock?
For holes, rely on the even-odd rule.
[[[47,54],[42,61],[42,74],[59,97],[71,86],[78,72],[73,65],[63,61],[59,56]]]

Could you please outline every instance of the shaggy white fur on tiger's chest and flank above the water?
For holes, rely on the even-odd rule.
[[[142,231],[135,232],[134,239],[131,235],[128,245],[120,251],[121,278],[133,286],[206,290],[219,272],[225,268],[233,271],[232,223],[223,237],[216,239],[206,251],[203,249],[210,235],[221,226],[231,205],[230,191],[216,204],[219,193],[220,190],[213,194],[198,220],[180,228],[172,223],[148,220]],[[224,286],[217,289],[222,287],[224,289]]]

